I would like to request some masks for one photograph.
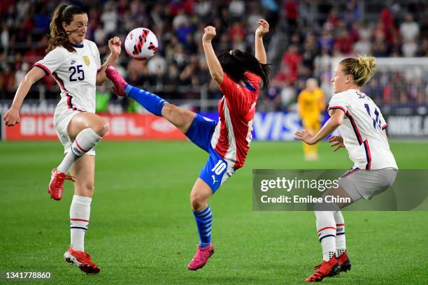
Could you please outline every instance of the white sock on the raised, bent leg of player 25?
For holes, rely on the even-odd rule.
[[[83,154],[89,152],[100,140],[101,136],[98,136],[98,134],[91,128],[80,131],[76,136],[73,145],[71,145],[71,151],[67,152],[66,156],[64,156],[64,159],[57,167],[58,171],[60,173],[69,173],[73,163],[78,161]]]

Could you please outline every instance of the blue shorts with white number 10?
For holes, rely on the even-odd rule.
[[[212,119],[197,114],[186,133],[187,138],[209,154],[208,161],[199,173],[199,178],[208,184],[213,193],[235,173],[234,162],[223,159],[211,146],[216,125],[217,122]]]

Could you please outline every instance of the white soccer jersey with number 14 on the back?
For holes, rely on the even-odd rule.
[[[345,112],[343,123],[338,129],[349,158],[355,163],[354,167],[367,170],[397,168],[383,134],[387,123],[369,96],[357,89],[337,93],[329,102],[329,115],[333,109]]]

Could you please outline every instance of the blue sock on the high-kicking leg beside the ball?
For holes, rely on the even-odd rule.
[[[152,114],[162,117],[162,108],[164,108],[166,103],[164,99],[129,84],[125,87],[124,92],[129,98],[133,98]]]

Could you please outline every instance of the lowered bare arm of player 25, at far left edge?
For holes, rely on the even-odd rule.
[[[13,98],[12,106],[3,117],[6,126],[13,126],[20,122],[20,108],[25,96],[27,96],[29,89],[35,82],[45,76],[45,71],[41,68],[34,67],[25,75],[24,79],[20,82],[20,86],[16,90],[15,98]]]

